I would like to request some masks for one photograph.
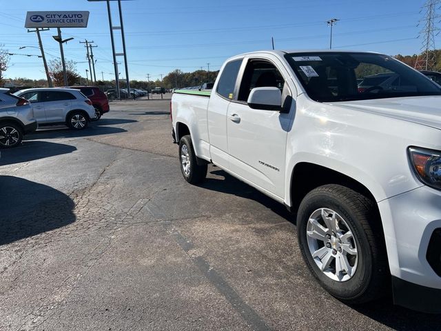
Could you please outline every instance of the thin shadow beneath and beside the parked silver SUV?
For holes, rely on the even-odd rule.
[[[84,130],[70,130],[69,128],[45,128],[43,130],[37,130],[32,134],[25,136],[23,140],[34,139],[59,139],[59,138],[78,138],[78,137],[94,137],[102,134],[114,134],[127,132],[127,130],[121,128],[112,128],[111,126],[88,126]]]

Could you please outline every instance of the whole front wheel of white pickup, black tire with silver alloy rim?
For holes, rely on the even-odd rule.
[[[378,299],[389,279],[375,201],[341,185],[309,192],[297,215],[303,259],[318,283],[349,304]]]

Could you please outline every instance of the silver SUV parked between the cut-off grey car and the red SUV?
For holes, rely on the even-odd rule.
[[[73,88],[30,88],[14,95],[30,101],[39,126],[65,124],[82,130],[96,119],[95,109],[81,91]]]

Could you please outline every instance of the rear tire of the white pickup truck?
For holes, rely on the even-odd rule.
[[[187,159],[188,168],[186,170],[183,159]],[[196,154],[194,154],[192,138],[188,135],[179,141],[179,163],[181,172],[186,181],[190,184],[198,184],[204,181],[207,176],[207,164],[198,165]]]

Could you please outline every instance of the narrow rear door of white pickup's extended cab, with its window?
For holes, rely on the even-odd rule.
[[[236,80],[243,59],[229,61],[221,70],[216,90],[209,98],[207,121],[213,163],[229,168],[227,147],[227,110],[234,99]]]

